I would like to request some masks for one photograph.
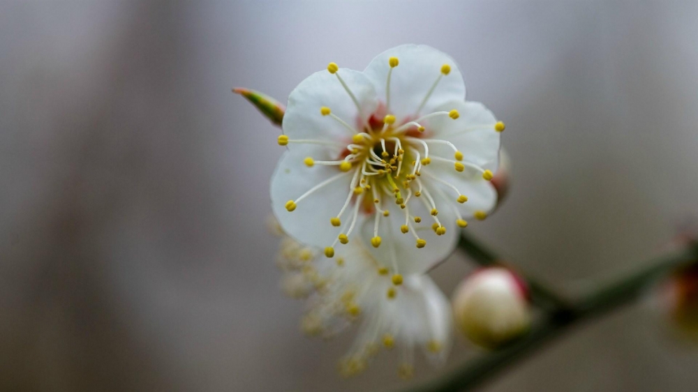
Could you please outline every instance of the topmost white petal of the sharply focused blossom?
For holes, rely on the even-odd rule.
[[[386,99],[387,75],[390,70],[389,58],[397,57],[399,65],[393,68],[390,80],[389,112],[398,122],[415,119],[420,114],[434,112],[434,107],[450,100],[463,100],[466,97],[466,85],[456,62],[447,54],[426,45],[401,45],[376,56],[364,73],[376,86],[381,102]],[[440,78],[436,89],[426,100],[419,113],[417,109],[424,97],[441,75],[441,67],[448,64],[451,71]]]

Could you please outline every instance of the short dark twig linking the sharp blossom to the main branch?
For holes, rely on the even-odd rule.
[[[538,282],[534,278],[526,276],[513,266],[506,264],[503,261],[503,259],[497,257],[497,255],[495,255],[495,253],[492,250],[487,248],[487,246],[483,245],[482,243],[478,242],[472,236],[463,232],[461,234],[461,240],[458,243],[458,246],[464,252],[466,252],[468,256],[470,256],[470,258],[472,258],[473,261],[475,261],[477,264],[480,264],[482,266],[505,266],[507,269],[511,269],[512,271],[515,271],[517,274],[519,274],[521,278],[526,280],[528,288],[530,289],[531,301],[535,303],[537,306],[540,306],[541,308],[547,310],[569,309],[572,307],[570,301],[564,299],[563,296],[556,294],[552,289],[549,289],[546,285],[542,284],[541,282]]]

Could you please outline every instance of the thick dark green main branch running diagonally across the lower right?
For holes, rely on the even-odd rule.
[[[466,243],[470,243],[470,240],[466,240]],[[544,343],[560,336],[570,327],[621,308],[637,299],[639,294],[658,278],[696,262],[698,262],[698,246],[690,246],[658,257],[643,268],[607,285],[601,285],[595,291],[582,296],[573,303],[572,307],[565,306],[565,308],[544,312],[544,316],[533,326],[528,335],[503,349],[468,361],[453,372],[410,391],[446,392],[475,388],[507,365],[512,365],[526,355],[532,354],[536,349],[540,349]]]

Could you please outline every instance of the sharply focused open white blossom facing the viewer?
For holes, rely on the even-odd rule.
[[[444,259],[456,227],[496,204],[504,124],[465,93],[453,59],[424,45],[387,50],[363,73],[329,63],[301,82],[271,186],[285,232],[328,257],[337,243],[371,243],[394,274]]]

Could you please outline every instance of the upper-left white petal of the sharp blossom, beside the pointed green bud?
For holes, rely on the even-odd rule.
[[[320,114],[320,108],[329,107],[332,114],[354,129],[362,129],[361,124],[376,110],[378,105],[376,91],[364,74],[346,68],[341,68],[337,73],[357,99],[361,116],[359,116],[359,108],[336,75],[327,70],[313,73],[291,91],[288,97],[282,128],[283,133],[288,135],[290,140],[324,140],[343,143],[346,146],[351,143],[351,137],[355,132],[348,130],[332,116]],[[328,149],[328,146],[290,143],[288,149],[313,156],[313,153]],[[333,159],[338,158],[342,149],[341,146],[329,148],[330,155],[334,155]]]

